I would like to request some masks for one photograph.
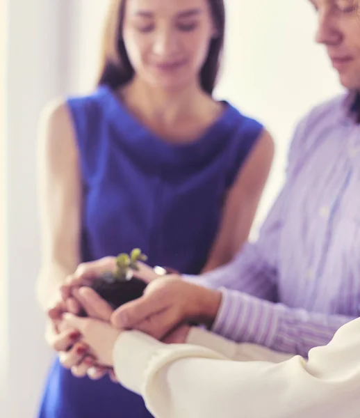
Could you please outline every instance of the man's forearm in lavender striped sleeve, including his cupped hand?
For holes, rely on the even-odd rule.
[[[236,342],[254,343],[304,357],[326,344],[352,317],[289,308],[227,288],[206,288],[168,276],[152,281],[136,300],[117,308],[113,325],[163,339],[181,323],[195,321]]]

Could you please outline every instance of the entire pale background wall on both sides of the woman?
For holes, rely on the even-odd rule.
[[[87,91],[97,71],[98,34],[108,0],[7,0],[6,265],[1,279],[1,417],[33,417],[51,358],[35,302],[39,236],[35,201],[35,136],[45,102]],[[283,179],[295,121],[339,91],[325,54],[313,45],[315,16],[306,0],[228,0],[224,77],[217,94],[269,127],[276,166],[258,219]],[[5,357],[8,353],[8,357]],[[1,399],[0,399],[1,400]],[[2,400],[3,401],[3,400]]]

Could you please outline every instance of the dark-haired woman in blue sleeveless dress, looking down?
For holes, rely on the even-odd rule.
[[[113,1],[98,88],[44,112],[44,309],[80,262],[140,247],[150,265],[196,274],[246,240],[273,144],[258,122],[212,98],[223,38],[222,0]],[[63,368],[84,349],[49,322],[51,346],[63,337],[72,348],[51,369],[41,418],[118,417],[120,405],[124,417],[149,417],[140,396],[107,377],[79,380]]]

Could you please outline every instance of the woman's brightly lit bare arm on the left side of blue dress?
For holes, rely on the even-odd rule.
[[[81,180],[72,122],[64,103],[49,105],[40,119],[38,193],[42,265],[37,293],[47,310],[58,300],[65,277],[80,262]]]

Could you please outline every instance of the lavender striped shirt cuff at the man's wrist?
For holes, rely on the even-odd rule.
[[[238,342],[271,348],[279,326],[272,302],[220,288],[222,299],[212,331]]]

